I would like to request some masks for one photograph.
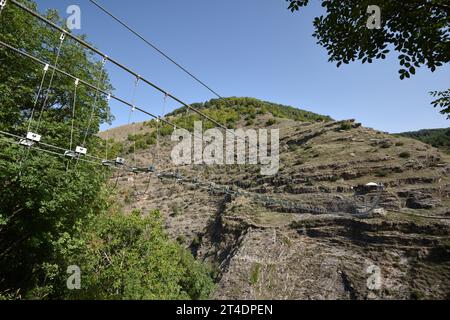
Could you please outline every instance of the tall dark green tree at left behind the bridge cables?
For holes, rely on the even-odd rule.
[[[32,1],[24,4],[36,10]],[[48,19],[62,24],[56,11]],[[7,4],[2,12],[0,39],[20,50],[53,64],[60,34],[31,15]],[[0,130],[25,136],[31,131],[43,142],[69,148],[73,79],[55,73],[49,87],[51,69],[44,81],[32,121],[34,100],[43,77],[43,66],[0,46]],[[100,79],[101,64],[80,46],[66,39],[58,67],[90,83],[111,89],[107,74]],[[48,90],[48,99],[44,104]],[[94,136],[106,120],[107,103],[99,96],[97,110],[88,128],[96,92],[80,85],[76,99],[74,143],[86,135],[88,149],[97,148]],[[41,119],[41,121],[39,121]],[[20,290],[26,295],[41,287],[58,267],[61,243],[80,228],[90,214],[99,212],[99,197],[105,176],[98,168],[62,160],[60,157],[23,149],[1,135],[0,142],[0,292]],[[9,141],[8,141],[9,140]],[[15,141],[17,142],[17,140]],[[47,293],[41,292],[40,297]]]

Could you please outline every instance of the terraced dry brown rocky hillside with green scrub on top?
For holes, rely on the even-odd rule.
[[[213,298],[450,297],[449,155],[354,120],[227,100],[196,106],[229,128],[279,128],[276,176],[249,165],[175,167],[170,130],[163,128],[158,148],[154,121],[135,124],[136,136],[132,126],[108,133],[128,159],[136,141],[138,165],[165,172],[119,172],[111,183],[117,179],[114,192],[128,211],[160,210],[170,236],[215,267]],[[180,109],[167,117],[191,127],[197,116]],[[385,186],[379,210],[356,217],[353,187],[369,182]],[[381,272],[374,290],[372,266]]]

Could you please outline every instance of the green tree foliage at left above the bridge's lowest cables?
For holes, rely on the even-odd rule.
[[[31,1],[24,1],[33,10],[36,5]],[[57,24],[63,24],[54,10],[47,12],[46,17]],[[32,53],[41,60],[53,65],[56,51],[60,43],[60,34],[46,27],[44,24],[32,18],[29,14],[8,5],[1,17],[0,39],[25,52]],[[2,112],[0,112],[0,128],[14,128],[15,133],[23,134],[26,131],[33,109],[33,102],[43,76],[43,66],[24,58],[17,53],[1,47],[0,58],[0,91],[2,95]],[[100,83],[100,87],[111,90],[108,75],[104,75],[102,81],[101,62],[94,58],[93,53],[83,50],[79,45],[66,38],[61,48],[61,56],[58,67],[77,76],[89,83]],[[44,81],[44,89],[49,86],[52,70],[49,69]],[[44,106],[46,90],[42,92],[34,120],[41,116],[40,134],[47,138],[46,142],[57,143],[64,140],[63,147],[67,147],[71,127],[68,125],[72,119],[72,104],[75,84],[73,79],[55,72],[53,84],[48,90],[48,101]],[[84,135],[92,136],[98,132],[101,122],[107,118],[107,102],[105,97],[99,96],[97,104],[94,103],[96,91],[83,85],[78,86],[77,103],[75,113],[75,137],[74,141],[82,143]],[[95,117],[88,128],[91,110],[96,107]],[[38,127],[37,121],[31,123],[31,128]],[[88,143],[89,145],[89,143]]]

